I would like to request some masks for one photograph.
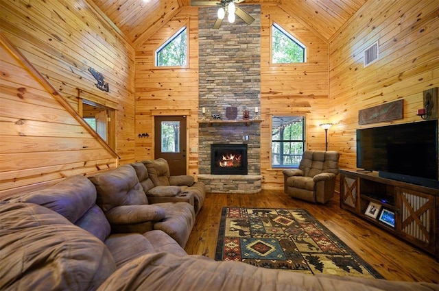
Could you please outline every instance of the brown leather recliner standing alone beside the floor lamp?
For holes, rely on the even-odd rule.
[[[334,196],[339,159],[337,151],[305,151],[299,168],[282,171],[284,192],[289,197],[327,203]]]

